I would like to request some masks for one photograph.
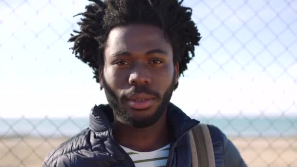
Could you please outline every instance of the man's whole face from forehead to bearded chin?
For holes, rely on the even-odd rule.
[[[130,24],[108,36],[101,85],[115,118],[134,127],[155,124],[169,104],[179,67],[161,29]]]

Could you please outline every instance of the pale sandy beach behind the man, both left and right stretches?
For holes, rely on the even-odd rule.
[[[249,167],[297,167],[297,137],[230,138]],[[67,138],[0,138],[0,167],[41,167]]]

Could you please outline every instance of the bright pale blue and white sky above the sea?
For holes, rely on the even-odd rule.
[[[0,117],[81,117],[106,103],[66,42],[87,3],[0,0]],[[296,0],[184,5],[203,38],[172,103],[194,117],[297,116]]]

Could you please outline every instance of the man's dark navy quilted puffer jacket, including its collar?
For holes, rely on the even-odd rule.
[[[175,105],[168,106],[168,120],[173,141],[167,167],[191,167],[188,130],[199,121],[189,118]],[[112,110],[108,105],[95,106],[90,125],[78,135],[61,144],[44,160],[44,167],[134,167],[128,154],[114,140],[110,122]],[[246,167],[232,142],[215,126],[208,125],[213,144],[216,167]]]

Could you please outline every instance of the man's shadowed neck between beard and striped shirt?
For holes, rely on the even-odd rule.
[[[169,144],[167,110],[154,125],[146,128],[132,127],[115,119],[112,123],[112,133],[115,140],[127,148],[140,152],[159,149]]]

